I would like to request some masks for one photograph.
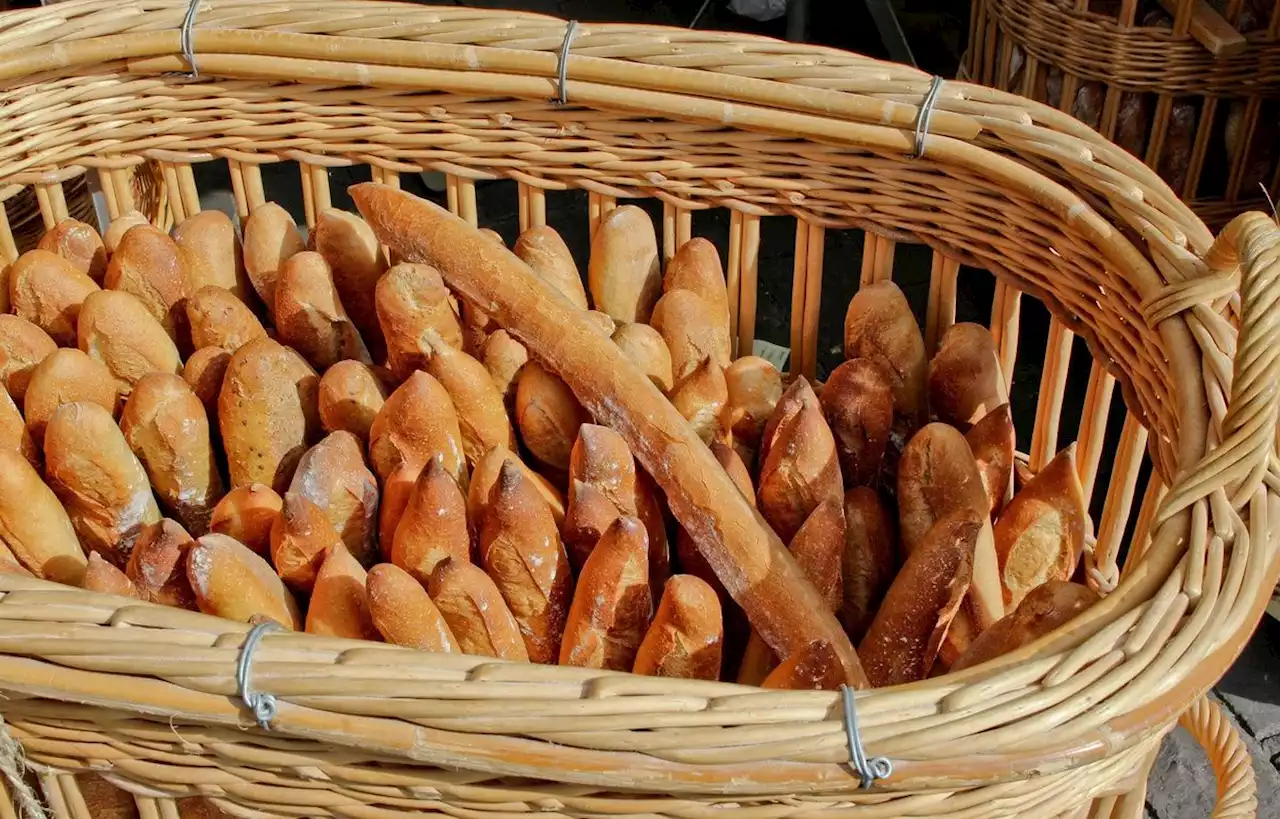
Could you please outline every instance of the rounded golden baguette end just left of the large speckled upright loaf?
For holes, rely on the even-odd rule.
[[[209,531],[223,476],[205,407],[187,383],[164,372],[142,378],[124,404],[120,431],[165,509],[197,536]]]

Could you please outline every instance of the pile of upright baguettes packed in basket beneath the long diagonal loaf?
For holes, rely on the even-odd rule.
[[[504,253],[466,230],[460,257]],[[1071,448],[1036,476],[1015,463],[986,328],[951,328],[931,362],[902,293],[865,287],[847,361],[820,389],[786,385],[731,360],[705,239],[663,271],[649,218],[618,207],[586,287],[550,228],[513,252],[687,420],[838,616],[865,682],[989,659],[1096,599],[1068,582],[1089,527]],[[539,349],[387,255],[337,210],[305,244],[271,203],[243,242],[216,211],[172,235],[136,214],[101,238],[58,224],[0,289],[4,571],[436,651],[849,680],[829,640],[774,655],[719,580],[739,567],[700,552]]]

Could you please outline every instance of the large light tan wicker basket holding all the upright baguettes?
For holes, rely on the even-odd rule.
[[[963,83],[942,87],[911,159],[929,77],[833,50],[581,26],[561,105],[549,99],[566,26],[550,18],[211,0],[189,81],[186,12],[184,0],[73,0],[0,17],[0,178],[56,187],[59,169],[109,179],[151,159],[180,216],[200,207],[192,164],[227,163],[244,214],[264,202],[262,165],[296,161],[311,218],[330,202],[333,168],[367,165],[392,184],[439,170],[471,220],[485,179],[518,183],[522,225],[567,188],[589,192],[590,220],[618,198],[657,197],[668,252],[695,211],[728,209],[741,351],[755,335],[762,225],[795,224],[792,369],[809,375],[823,276],[828,293],[851,276],[824,264],[828,232],[867,232],[863,282],[891,275],[899,243],[924,243],[931,344],[977,275],[961,265],[998,279],[1007,372],[1021,294],[1052,311],[1033,468],[1066,439],[1069,351],[1088,342],[1079,463],[1106,498],[1088,573],[1108,594],[995,663],[860,692],[868,752],[893,763],[864,791],[828,692],[271,635],[250,674],[276,697],[264,729],[238,696],[246,626],[0,576],[0,713],[60,819],[90,815],[83,772],[136,795],[142,816],[205,796],[237,816],[1137,818],[1180,715],[1219,769],[1216,815],[1252,815],[1248,755],[1201,696],[1280,573],[1280,232],[1267,218],[1215,244],[1094,132]],[[1128,410],[1103,482],[1116,384]],[[0,742],[10,784],[13,750]]]

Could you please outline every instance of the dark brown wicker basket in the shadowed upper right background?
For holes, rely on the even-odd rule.
[[[1247,41],[1222,55],[1175,3],[975,0],[964,74],[1070,111],[1216,228],[1280,192],[1280,3],[1212,0]]]

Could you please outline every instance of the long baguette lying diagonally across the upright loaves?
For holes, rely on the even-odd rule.
[[[844,628],[778,536],[680,412],[582,311],[448,211],[374,183],[353,186],[351,195],[398,258],[434,265],[564,379],[598,422],[622,435],[769,648],[790,656],[812,640],[828,640],[849,683],[867,686]]]

